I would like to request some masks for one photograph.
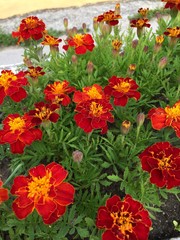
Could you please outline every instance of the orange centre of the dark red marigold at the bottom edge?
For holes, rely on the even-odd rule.
[[[118,226],[119,231],[126,235],[126,231],[132,232],[133,229],[133,217],[129,212],[113,212],[111,213],[113,218],[113,224]]]

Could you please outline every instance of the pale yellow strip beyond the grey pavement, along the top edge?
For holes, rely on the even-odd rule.
[[[53,8],[80,7],[86,4],[107,1],[108,0],[0,0],[0,19],[32,11]]]

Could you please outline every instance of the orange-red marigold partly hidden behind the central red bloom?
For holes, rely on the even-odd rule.
[[[90,87],[84,87],[82,92],[76,91],[74,93],[73,101],[75,103],[85,102],[87,100],[92,99],[103,99],[105,98],[105,94],[103,89],[98,84],[93,84]]]

